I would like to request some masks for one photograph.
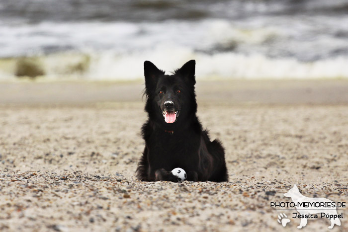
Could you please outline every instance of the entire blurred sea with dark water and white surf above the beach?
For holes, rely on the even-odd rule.
[[[347,0],[0,0],[0,80],[348,78]]]

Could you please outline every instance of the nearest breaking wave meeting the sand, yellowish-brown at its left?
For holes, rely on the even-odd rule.
[[[63,52],[46,56],[0,59],[0,80],[18,77],[47,79],[136,80],[143,78],[143,63],[150,60],[160,69],[174,71],[196,60],[197,79],[348,78],[348,57],[314,62],[272,59],[261,54],[233,52],[206,54],[188,47],[157,47],[132,54]]]

